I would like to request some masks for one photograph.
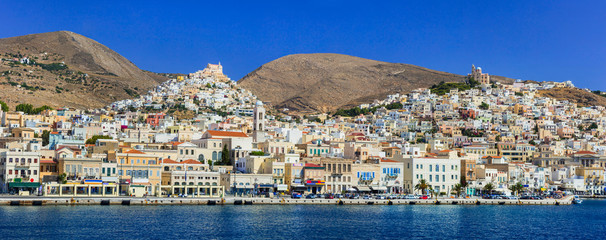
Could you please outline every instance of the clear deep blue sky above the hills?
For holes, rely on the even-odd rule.
[[[176,2],[176,3],[175,3]],[[0,38],[69,30],[142,69],[238,80],[331,52],[606,90],[606,1],[2,1]]]

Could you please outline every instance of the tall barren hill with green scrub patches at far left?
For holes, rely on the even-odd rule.
[[[0,100],[11,108],[19,103],[103,107],[168,79],[68,31],[0,39],[0,57]]]

